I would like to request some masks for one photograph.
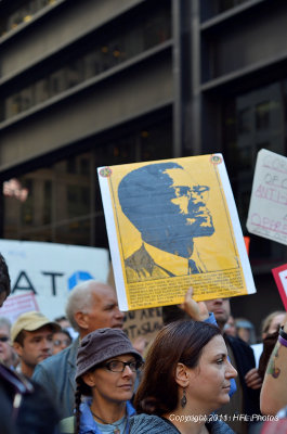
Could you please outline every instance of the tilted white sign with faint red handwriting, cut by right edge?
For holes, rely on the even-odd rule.
[[[287,158],[262,149],[247,218],[250,233],[287,244]]]

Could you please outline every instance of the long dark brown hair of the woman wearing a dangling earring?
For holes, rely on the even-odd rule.
[[[195,368],[203,348],[219,334],[218,327],[191,320],[172,322],[161,329],[145,360],[134,397],[136,412],[162,416],[174,410],[178,405],[178,363]]]

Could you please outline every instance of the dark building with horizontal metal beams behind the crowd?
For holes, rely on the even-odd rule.
[[[213,152],[248,235],[257,152],[286,154],[286,28],[277,0],[1,0],[0,237],[107,246],[96,167]],[[286,247],[251,235],[250,260],[234,314],[259,323]]]

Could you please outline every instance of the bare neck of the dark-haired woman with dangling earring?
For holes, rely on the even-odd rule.
[[[197,409],[178,407],[174,411],[164,414],[181,434],[207,434],[206,422],[209,412]]]

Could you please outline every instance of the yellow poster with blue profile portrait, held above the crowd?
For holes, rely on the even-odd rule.
[[[221,154],[99,167],[121,310],[256,292]]]

